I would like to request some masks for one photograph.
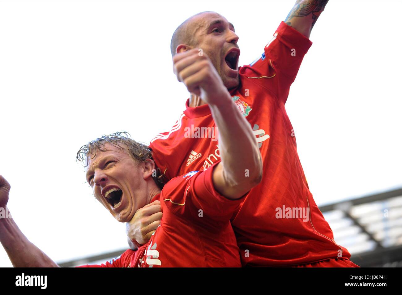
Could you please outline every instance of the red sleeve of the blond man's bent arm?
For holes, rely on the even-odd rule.
[[[174,197],[169,202],[166,202],[162,196],[170,211],[193,222],[207,223],[208,226],[219,227],[221,223],[227,223],[233,212],[238,209],[243,198],[231,200],[215,190],[212,173],[219,162],[205,170],[179,176],[180,178],[188,178],[185,182],[184,195]]]

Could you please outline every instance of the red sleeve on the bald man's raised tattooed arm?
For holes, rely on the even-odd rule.
[[[301,61],[313,43],[283,21],[273,36],[261,57],[240,73],[273,91],[285,103]]]

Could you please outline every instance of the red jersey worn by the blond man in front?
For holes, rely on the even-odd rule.
[[[84,267],[240,267],[230,217],[242,199],[215,191],[212,171],[192,171],[170,180],[160,200],[163,217],[147,244],[101,265]]]

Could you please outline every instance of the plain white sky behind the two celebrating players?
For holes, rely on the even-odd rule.
[[[0,174],[24,234],[55,261],[127,246],[92,196],[78,148],[170,130],[188,93],[170,38],[213,10],[250,64],[295,1],[1,1]],[[318,205],[402,186],[401,1],[330,1],[286,104]],[[258,110],[256,110],[258,111]],[[0,249],[0,266],[11,266]]]

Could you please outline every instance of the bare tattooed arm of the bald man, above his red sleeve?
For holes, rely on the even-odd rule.
[[[285,23],[310,38],[311,30],[327,2],[328,0],[297,0]]]

